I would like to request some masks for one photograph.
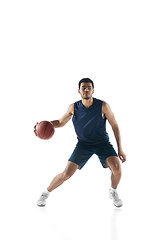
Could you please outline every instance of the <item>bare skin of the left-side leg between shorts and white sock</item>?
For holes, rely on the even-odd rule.
[[[65,170],[53,178],[51,184],[47,188],[49,192],[52,192],[55,188],[59,187],[64,181],[68,180],[78,169],[78,165],[73,162],[68,162]]]

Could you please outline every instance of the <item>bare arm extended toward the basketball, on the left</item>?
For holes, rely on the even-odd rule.
[[[74,114],[74,103],[72,103],[67,112],[63,115],[63,117],[59,120],[51,121],[55,128],[63,127],[73,116]]]

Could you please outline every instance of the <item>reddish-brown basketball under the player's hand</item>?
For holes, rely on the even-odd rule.
[[[55,132],[54,126],[51,122],[42,121],[36,125],[35,133],[36,135],[44,140],[50,139]]]

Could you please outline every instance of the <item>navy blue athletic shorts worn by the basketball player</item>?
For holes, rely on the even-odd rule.
[[[93,154],[96,154],[99,157],[99,160],[104,168],[108,167],[104,164],[106,158],[110,156],[118,157],[113,146],[108,141],[96,145],[78,141],[68,161],[76,163],[79,166],[79,169],[82,169]]]

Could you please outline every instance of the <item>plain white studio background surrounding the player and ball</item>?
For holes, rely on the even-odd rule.
[[[3,239],[159,239],[159,1],[0,2],[1,174]],[[127,162],[108,198],[110,170],[93,156],[36,201],[62,172],[77,142],[70,121],[48,141],[37,121],[59,119],[89,77],[120,127]],[[116,142],[107,124],[110,140]]]

